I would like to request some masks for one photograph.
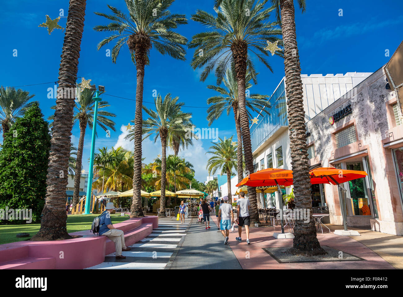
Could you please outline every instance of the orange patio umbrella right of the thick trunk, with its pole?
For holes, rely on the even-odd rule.
[[[365,171],[359,170],[347,170],[347,169],[337,169],[334,167],[319,167],[310,170],[309,172],[311,183],[331,183],[332,185],[337,185],[340,190],[346,195],[347,190],[341,185],[341,183],[345,183],[347,181],[351,181],[353,179],[359,179],[362,177],[366,177],[368,175]],[[343,225],[344,230],[347,231],[347,204],[346,197],[340,203],[341,213],[343,214]]]

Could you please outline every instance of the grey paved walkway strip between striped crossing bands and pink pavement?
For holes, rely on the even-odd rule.
[[[196,223],[197,218],[192,219],[170,269],[242,269],[229,245],[224,245],[224,236],[212,218],[210,215],[208,230],[204,223]]]

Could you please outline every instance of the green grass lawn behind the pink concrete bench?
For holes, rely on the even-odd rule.
[[[99,215],[99,214],[98,214]],[[73,233],[77,231],[91,229],[92,221],[98,215],[68,215],[67,216],[67,232]],[[112,223],[120,223],[129,217],[121,217],[120,214],[110,215]],[[0,244],[16,242],[31,238],[39,231],[40,223],[24,224],[24,225],[0,225]],[[18,233],[29,233],[29,237],[17,237]]]

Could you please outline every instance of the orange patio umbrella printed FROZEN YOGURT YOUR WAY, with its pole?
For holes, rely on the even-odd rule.
[[[284,234],[284,221],[283,221],[283,192],[281,192],[280,185],[287,187],[293,184],[293,171],[287,169],[268,168],[246,176],[237,187],[241,185],[248,185],[249,187],[258,186],[277,186],[278,194],[280,196],[280,220],[281,220],[281,233]]]

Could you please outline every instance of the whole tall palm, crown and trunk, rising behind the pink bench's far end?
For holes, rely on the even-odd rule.
[[[143,80],[144,67],[149,64],[149,54],[152,46],[162,55],[168,54],[174,59],[185,60],[187,39],[174,32],[178,25],[187,24],[185,15],[171,14],[168,7],[174,0],[126,0],[129,17],[122,11],[108,5],[112,15],[95,13],[111,20],[109,25],[98,25],[94,30],[98,32],[112,32],[98,44],[98,50],[112,40],[117,42],[112,48],[112,62],[116,58],[123,44],[127,44],[137,69],[135,136],[134,136],[134,175],[133,175],[133,204],[130,217],[142,217],[141,209],[141,135],[143,116]]]

